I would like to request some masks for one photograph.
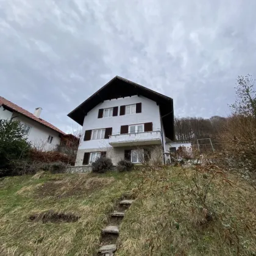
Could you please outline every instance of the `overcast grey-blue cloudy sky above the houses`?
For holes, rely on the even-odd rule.
[[[256,1],[0,0],[0,95],[70,132],[66,116],[116,75],[226,116],[256,77]]]

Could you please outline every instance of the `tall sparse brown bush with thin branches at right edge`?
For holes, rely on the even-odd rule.
[[[256,174],[256,91],[252,76],[238,76],[232,116],[220,133],[230,168]]]

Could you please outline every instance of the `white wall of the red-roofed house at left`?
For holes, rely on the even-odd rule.
[[[4,110],[4,107],[1,106],[0,119],[18,120],[21,124],[30,127],[27,134],[28,141],[30,141],[32,146],[39,150],[52,151],[60,144],[59,132],[50,129],[37,121],[27,118],[20,113]],[[48,143],[49,136],[53,137],[51,143]]]

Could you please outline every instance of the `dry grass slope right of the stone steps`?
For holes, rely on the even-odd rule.
[[[135,179],[116,255],[255,255],[256,191],[239,177],[173,168]]]

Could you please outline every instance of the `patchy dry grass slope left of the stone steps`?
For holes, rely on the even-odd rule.
[[[5,178],[0,182],[0,255],[93,255],[108,213],[127,192],[129,175]],[[80,218],[68,223],[30,221],[31,215],[48,210]]]

